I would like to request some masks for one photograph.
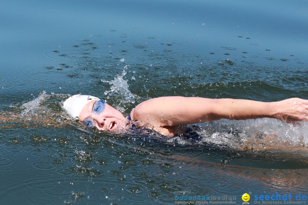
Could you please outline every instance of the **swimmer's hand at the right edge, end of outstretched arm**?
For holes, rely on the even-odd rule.
[[[273,102],[274,117],[287,123],[294,121],[308,121],[308,100],[290,98]]]

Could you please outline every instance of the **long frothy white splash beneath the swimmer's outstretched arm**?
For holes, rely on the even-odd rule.
[[[188,125],[198,143],[230,148],[308,147],[308,122],[287,124],[277,119],[217,120]]]

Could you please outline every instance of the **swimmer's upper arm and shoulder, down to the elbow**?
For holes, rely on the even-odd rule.
[[[215,101],[199,97],[153,98],[137,105],[131,116],[133,119],[151,122],[160,127],[200,123],[213,120],[209,113]]]

